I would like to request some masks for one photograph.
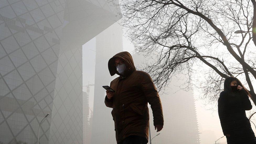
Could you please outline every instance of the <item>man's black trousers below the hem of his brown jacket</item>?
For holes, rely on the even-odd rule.
[[[146,144],[147,139],[141,136],[128,136],[117,144]]]

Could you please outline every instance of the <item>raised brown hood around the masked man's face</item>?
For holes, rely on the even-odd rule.
[[[108,61],[108,70],[109,70],[109,73],[110,73],[111,76],[114,76],[115,74],[118,74],[119,76],[122,76],[116,70],[116,67],[114,66],[115,58],[118,58],[118,57],[122,58],[124,60],[125,65],[126,65],[126,70],[124,72],[124,76],[128,76],[129,74],[131,74],[133,71],[136,70],[136,68],[134,66],[133,59],[132,59],[132,55],[127,51],[123,51],[123,52],[119,52],[118,54],[114,55]]]

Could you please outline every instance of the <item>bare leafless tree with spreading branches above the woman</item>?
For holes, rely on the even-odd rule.
[[[120,24],[129,29],[136,50],[154,55],[145,71],[159,91],[182,73],[188,76],[183,88],[196,86],[203,99],[216,102],[225,78],[235,76],[256,104],[255,0],[120,0],[118,5]]]

